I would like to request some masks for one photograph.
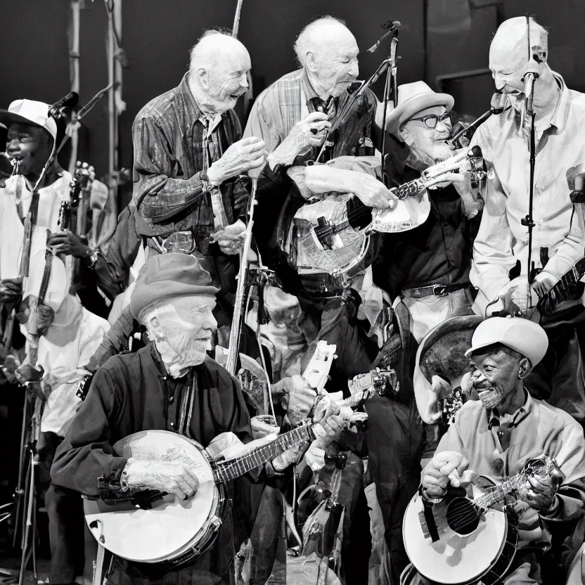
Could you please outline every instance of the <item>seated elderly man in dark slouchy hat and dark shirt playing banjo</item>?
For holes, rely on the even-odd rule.
[[[186,499],[198,489],[195,470],[117,457],[113,444],[145,429],[177,432],[203,446],[229,433],[231,455],[250,442],[250,416],[240,385],[206,354],[217,326],[212,314],[216,292],[210,274],[191,255],[160,255],[143,266],[130,307],[146,327],[150,342],[139,352],[110,358],[98,369],[57,451],[51,469],[55,484],[101,499],[116,499],[128,489],[159,489]],[[188,412],[181,404],[193,404],[193,409]],[[333,435],[344,424],[338,415],[323,418],[321,435]],[[300,449],[285,451],[257,470],[255,479],[283,473],[299,456]],[[231,584],[235,552],[228,515],[214,546],[191,565],[169,575],[152,565],[116,558],[108,581]]]

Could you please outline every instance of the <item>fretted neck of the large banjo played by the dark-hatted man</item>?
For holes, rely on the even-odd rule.
[[[283,454],[291,447],[305,441],[312,441],[314,438],[313,425],[301,425],[283,433],[271,443],[252,449],[244,455],[226,461],[217,461],[214,470],[215,482],[225,483],[235,480],[252,469],[264,465],[266,461],[271,461],[276,456]]]

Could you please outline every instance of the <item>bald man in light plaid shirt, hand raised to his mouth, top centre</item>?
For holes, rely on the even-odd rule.
[[[317,339],[337,345],[333,379],[339,374],[340,382],[345,383],[370,369],[371,355],[367,341],[354,326],[352,299],[340,307],[342,279],[316,271],[285,272],[286,259],[272,238],[286,231],[286,224],[304,203],[300,195],[290,194],[295,184],[305,197],[319,187],[319,193],[355,193],[371,207],[388,207],[392,195],[375,173],[305,165],[316,160],[328,129],[351,100],[347,89],[359,74],[359,49],[352,32],[332,16],[318,18],[300,32],[295,53],[301,68],[277,79],[258,96],[244,131],[244,136],[261,137],[269,152],[259,177],[255,238],[265,252],[264,261],[273,262],[285,290],[300,298],[302,328],[309,347]],[[377,103],[373,92],[366,89],[333,136],[328,136],[334,146],[320,162],[343,155],[373,154],[370,134]],[[276,226],[276,231],[266,226]]]

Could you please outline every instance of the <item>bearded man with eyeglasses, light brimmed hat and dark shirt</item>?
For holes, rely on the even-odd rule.
[[[417,179],[428,167],[454,156],[447,142],[454,99],[436,94],[425,82],[399,86],[398,96],[385,126],[385,171],[391,187]],[[380,115],[376,122],[381,126]],[[465,169],[467,162],[449,174],[449,183],[427,191],[416,210],[422,217],[411,217],[420,225],[385,236],[373,265],[374,282],[392,302],[401,301],[409,310],[416,342],[445,319],[472,312],[469,268],[482,204]]]

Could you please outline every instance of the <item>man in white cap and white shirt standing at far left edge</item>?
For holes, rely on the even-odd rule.
[[[4,317],[10,315],[13,308],[17,309],[19,319],[25,323],[27,309],[36,304],[39,297],[47,265],[47,231],[60,231],[60,206],[70,198],[71,175],[53,158],[63,128],[58,127],[58,122],[49,115],[49,108],[47,103],[20,99],[13,101],[8,110],[0,110],[0,124],[7,128],[6,154],[15,167],[12,176],[0,181],[0,306]],[[38,199],[33,198],[37,183]],[[36,214],[33,214],[35,207]],[[35,215],[36,221],[31,221],[30,262],[28,274],[23,278],[20,263],[25,248],[25,221],[29,214],[31,217]],[[44,368],[41,384],[49,396],[41,422],[41,439],[37,444],[39,491],[44,491],[49,485],[49,467],[56,447],[63,440],[80,404],[75,397],[75,387],[84,372],[78,364],[84,363],[94,352],[108,328],[107,321],[82,309],[79,300],[68,294],[70,258],[53,257],[44,304],[37,310],[37,333],[43,336],[39,340],[37,364]],[[15,325],[18,330],[18,323]],[[27,335],[25,325],[21,330]],[[12,345],[11,341],[4,340],[8,345]],[[18,352],[18,356],[22,359],[22,352]],[[2,371],[11,379],[11,371],[19,360],[12,356],[7,361],[10,365],[7,363]],[[28,374],[37,374],[27,366],[19,368],[18,372],[24,378]],[[79,499],[66,501],[53,495],[50,487],[44,499],[49,513],[51,583],[70,583],[83,573],[83,524]]]

